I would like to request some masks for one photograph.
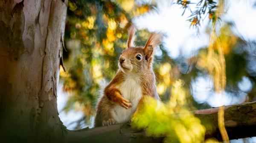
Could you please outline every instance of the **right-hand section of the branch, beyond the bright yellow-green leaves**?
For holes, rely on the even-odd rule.
[[[197,110],[194,113],[206,127],[205,138],[221,140],[218,108]],[[224,123],[230,140],[256,136],[256,102],[225,106]]]

